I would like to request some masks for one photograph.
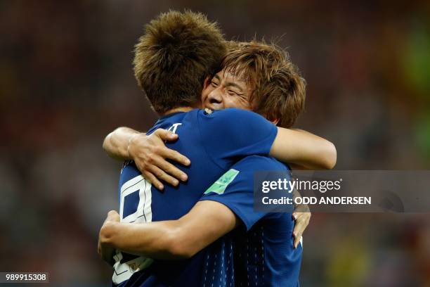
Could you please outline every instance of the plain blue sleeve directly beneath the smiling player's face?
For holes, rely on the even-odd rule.
[[[216,162],[247,155],[268,155],[278,129],[249,110],[228,108],[199,115],[202,144]]]

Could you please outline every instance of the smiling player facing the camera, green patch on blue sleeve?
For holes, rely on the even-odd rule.
[[[244,60],[245,58],[247,60]],[[256,62],[259,62],[263,68],[258,73],[252,69]],[[228,93],[223,93],[225,90],[223,86],[233,83],[237,84],[237,89],[247,91],[249,87],[252,87],[249,83],[260,82],[259,89],[261,91],[256,91],[258,93],[256,97],[264,96],[264,99],[268,101],[273,100],[275,96],[280,96],[280,94],[287,94],[285,89],[288,87],[288,81],[285,79],[289,79],[289,77],[278,79],[280,80],[279,82],[276,79],[288,72],[294,72],[291,63],[285,58],[283,51],[280,51],[275,46],[256,42],[241,44],[237,49],[230,51],[223,61],[223,66],[226,68],[216,74],[214,79],[211,80],[209,87],[204,90],[202,96],[204,101],[209,101],[219,106],[230,105],[228,103],[229,95]],[[249,75],[248,79],[242,79],[241,81],[233,76],[233,70],[238,72],[239,69],[241,70],[240,74]],[[269,78],[270,80],[265,80],[267,74],[272,75]],[[247,94],[246,96],[249,95]],[[242,108],[249,106],[248,101],[242,100],[241,103]],[[297,117],[297,110],[294,110],[292,106],[292,104],[287,106],[287,109],[292,110],[293,115],[291,117],[284,117],[284,125],[292,125],[295,117]],[[275,115],[280,111],[283,110],[279,108],[271,110]],[[169,245],[163,245],[163,243],[162,245],[157,245],[157,242],[152,242],[151,240],[169,236],[169,233],[171,233],[175,234],[175,240],[171,241],[170,244],[172,246],[169,246],[164,252],[168,252],[168,250],[171,250],[170,248],[175,248],[174,245],[180,245],[182,246],[180,248],[183,248],[183,250],[178,248],[179,254],[176,255],[190,256],[216,238],[226,234],[233,227],[244,225],[247,229],[251,230],[247,234],[244,234],[242,232],[243,229],[240,229],[235,235],[236,238],[240,238],[239,240],[243,241],[241,244],[235,244],[235,253],[244,258],[244,260],[235,260],[235,262],[242,262],[242,264],[236,264],[235,266],[235,271],[239,274],[235,276],[235,279],[238,281],[249,281],[254,285],[265,284],[266,286],[272,286],[275,284],[289,286],[291,284],[291,286],[295,286],[299,275],[301,250],[293,250],[292,247],[291,214],[264,214],[253,211],[252,175],[256,167],[258,167],[258,170],[287,171],[284,165],[271,158],[247,157],[237,162],[232,169],[217,181],[228,183],[222,186],[222,191],[219,190],[219,186],[216,188],[218,190],[214,190],[213,186],[211,186],[207,190],[207,194],[201,198],[201,200],[213,200],[218,203],[202,201],[188,215],[177,221],[159,222],[158,225],[149,225],[149,227],[146,224],[140,224],[136,228],[126,225],[116,225],[112,231],[110,229],[111,226],[107,223],[107,226],[109,226],[107,229],[110,229],[109,232],[112,232],[110,234],[112,236],[110,243],[120,249],[125,248],[125,250],[133,251],[134,253],[152,255],[151,252],[154,252],[154,250],[164,250],[163,248],[167,248]],[[231,182],[228,182],[230,178],[229,174],[232,174],[232,172],[234,177]],[[110,221],[108,220],[108,222]],[[207,222],[210,222],[210,225]],[[258,223],[256,224],[256,222]],[[164,224],[166,225],[164,226]],[[263,236],[264,232],[266,233],[265,236]],[[139,247],[133,244],[138,244]],[[216,247],[221,244],[223,244],[223,248]],[[211,247],[210,252],[205,255],[206,263],[208,264],[204,264],[205,270],[203,272],[202,283],[209,283],[209,280],[220,282],[219,279],[221,278],[219,276],[221,276],[220,274],[224,274],[221,281],[228,285],[228,280],[231,280],[231,277],[227,276],[228,269],[221,271],[221,262],[224,261],[224,268],[228,266],[228,262],[230,264],[233,262],[233,258],[231,258],[233,253],[229,252],[229,250],[233,249],[232,243],[230,240],[226,240],[218,243],[216,246]],[[248,248],[241,249],[240,246],[247,246]],[[264,253],[261,250],[263,248],[266,248],[266,251],[264,251],[266,260],[262,260]],[[279,253],[279,250],[282,250],[282,252]],[[228,256],[228,258],[222,260],[225,256]],[[248,257],[252,261],[253,267],[251,269],[245,266],[245,263],[247,263],[245,258]],[[216,264],[214,266],[213,260],[221,260],[218,267],[216,267]],[[232,270],[233,266],[230,266],[230,272]],[[239,272],[239,270],[242,270],[242,272]],[[244,270],[248,270],[249,272],[244,272]],[[266,272],[263,270],[266,270]],[[265,273],[266,276],[264,276]]]

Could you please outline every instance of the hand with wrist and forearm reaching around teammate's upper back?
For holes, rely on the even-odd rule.
[[[182,165],[190,165],[188,158],[165,146],[164,141],[176,139],[177,134],[165,129],[157,129],[146,135],[129,127],[119,127],[105,137],[103,149],[111,158],[134,160],[145,178],[161,190],[164,186],[159,180],[176,186],[179,184],[178,179],[188,179],[187,174],[167,161],[175,160]]]

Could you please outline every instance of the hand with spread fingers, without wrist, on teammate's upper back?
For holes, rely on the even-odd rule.
[[[187,174],[172,165],[169,160],[174,160],[181,165],[190,165],[190,160],[177,151],[167,148],[164,141],[176,141],[178,135],[166,129],[157,129],[149,136],[136,134],[129,142],[129,156],[136,162],[138,170],[151,181],[157,189],[164,189],[161,180],[177,186],[179,180],[186,181]]]

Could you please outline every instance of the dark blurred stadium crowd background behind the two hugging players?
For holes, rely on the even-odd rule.
[[[121,164],[101,144],[155,121],[131,59],[169,8],[287,47],[308,83],[297,127],[334,142],[338,170],[429,169],[430,2],[401,2],[1,1],[0,271],[110,282],[96,242]],[[430,286],[429,215],[313,214],[304,236],[303,286]]]

